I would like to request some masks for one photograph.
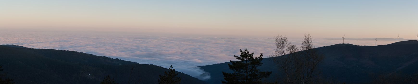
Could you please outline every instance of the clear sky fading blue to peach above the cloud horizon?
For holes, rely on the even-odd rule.
[[[0,31],[415,38],[418,0],[0,0]]]

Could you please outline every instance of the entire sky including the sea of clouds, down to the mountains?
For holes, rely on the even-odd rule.
[[[173,65],[191,76],[240,49],[268,57],[278,35],[300,45],[305,33],[316,47],[344,35],[361,46],[414,40],[418,0],[0,0],[0,44]]]

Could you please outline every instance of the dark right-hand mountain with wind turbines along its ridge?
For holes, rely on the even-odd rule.
[[[370,83],[371,74],[418,74],[418,41],[400,41],[380,46],[356,46],[352,44],[336,44],[314,48],[325,55],[324,62],[319,66],[322,76],[348,83]],[[280,56],[279,56],[280,57]],[[278,68],[273,58],[263,59],[261,71],[272,71],[265,81],[278,78]],[[199,66],[211,79],[209,84],[221,84],[222,71],[232,73],[225,62]]]

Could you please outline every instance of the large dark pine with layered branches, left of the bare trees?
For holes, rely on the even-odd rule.
[[[247,48],[244,51],[240,50],[240,52],[240,56],[234,56],[240,61],[230,61],[232,64],[228,64],[229,69],[234,73],[222,72],[225,79],[222,84],[262,84],[261,79],[267,78],[271,74],[271,71],[262,72],[257,69],[258,66],[263,64],[261,63],[263,53],[254,58],[254,52],[250,53]]]

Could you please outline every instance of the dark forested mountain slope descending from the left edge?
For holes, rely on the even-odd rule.
[[[99,84],[107,75],[120,84],[157,84],[158,75],[168,71],[88,53],[14,45],[0,45],[0,64],[1,73],[6,72],[16,84]],[[181,84],[205,84],[181,72],[178,76]]]

